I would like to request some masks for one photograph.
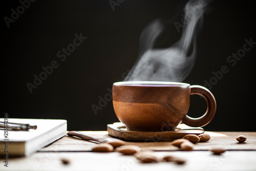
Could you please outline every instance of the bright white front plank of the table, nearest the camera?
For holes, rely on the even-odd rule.
[[[120,153],[93,153],[93,152],[62,152],[62,153],[36,153],[27,158],[10,158],[6,168],[3,159],[0,170],[255,170],[256,151],[227,151],[220,156],[212,155],[209,151],[196,152],[156,152],[158,158],[173,155],[186,160],[185,164],[178,165],[172,162],[141,163],[133,156]],[[63,164],[61,159],[69,160]]]

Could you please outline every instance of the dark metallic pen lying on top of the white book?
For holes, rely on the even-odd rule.
[[[36,125],[30,125],[26,123],[13,123],[0,121],[0,130],[8,129],[10,131],[28,131],[30,129],[37,129]]]

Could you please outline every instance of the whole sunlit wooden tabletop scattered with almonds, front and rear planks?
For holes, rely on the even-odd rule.
[[[109,136],[108,132],[84,132],[95,137]],[[62,137],[29,157],[9,158],[8,168],[0,159],[0,170],[256,170],[256,132],[205,132],[208,142],[195,144],[192,152],[183,152],[170,142],[126,142],[142,149],[153,149],[159,158],[174,155],[186,160],[185,164],[173,162],[141,163],[134,156],[117,152],[90,152],[97,145],[73,137]],[[236,137],[244,135],[246,142],[238,143]],[[213,155],[209,149],[221,146],[227,149],[222,155]],[[63,164],[61,159],[70,160]]]

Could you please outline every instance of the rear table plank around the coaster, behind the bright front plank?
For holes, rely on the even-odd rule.
[[[83,133],[93,137],[110,137],[107,131]],[[195,144],[196,151],[207,151],[212,146],[223,146],[228,150],[256,150],[256,132],[207,132],[210,135],[210,140],[207,142],[199,142]],[[244,143],[239,143],[236,138],[239,135],[244,135],[247,140]],[[137,145],[143,149],[152,149],[154,151],[180,151],[181,149],[173,146],[172,141],[159,142],[125,142],[125,145]],[[42,148],[40,152],[89,152],[97,143],[86,140],[81,140],[74,137],[65,136],[54,143]]]

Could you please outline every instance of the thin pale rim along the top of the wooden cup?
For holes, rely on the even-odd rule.
[[[190,86],[184,82],[170,81],[119,81],[114,83],[115,86],[137,86],[137,87],[181,87]]]

